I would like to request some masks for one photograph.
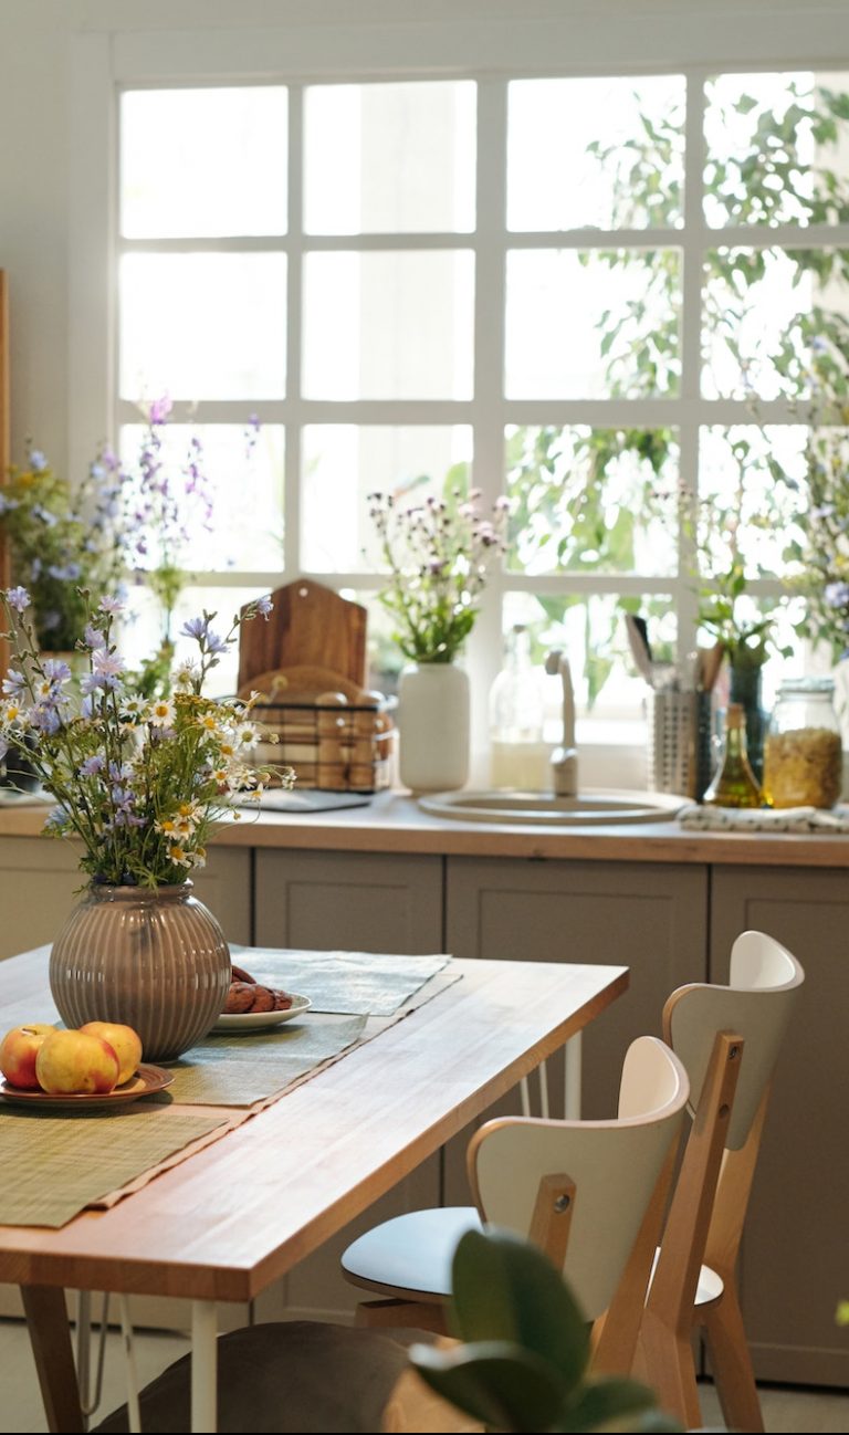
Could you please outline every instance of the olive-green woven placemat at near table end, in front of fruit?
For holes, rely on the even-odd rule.
[[[219,1116],[139,1105],[60,1116],[3,1106],[0,1225],[65,1225],[221,1125]]]

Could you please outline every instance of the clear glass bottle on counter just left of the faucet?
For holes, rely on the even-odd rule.
[[[544,792],[551,786],[551,743],[544,740],[544,697],[523,623],[508,634],[505,666],[489,692],[490,779],[495,788]]]

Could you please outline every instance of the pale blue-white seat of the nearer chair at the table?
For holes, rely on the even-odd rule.
[[[466,1231],[479,1231],[473,1205],[440,1205],[383,1221],[351,1241],[341,1269],[356,1286],[417,1300],[450,1296],[452,1258]]]

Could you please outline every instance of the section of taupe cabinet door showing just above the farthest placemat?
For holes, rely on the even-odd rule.
[[[440,857],[258,851],[255,880],[258,947],[443,950]]]

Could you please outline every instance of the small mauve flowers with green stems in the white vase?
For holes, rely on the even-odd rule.
[[[478,509],[480,492],[427,498],[397,508],[392,495],[370,494],[370,517],[389,567],[380,601],[397,623],[394,639],[417,663],[452,663],[475,626],[489,564],[506,551],[509,499],[492,518]]]

